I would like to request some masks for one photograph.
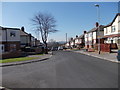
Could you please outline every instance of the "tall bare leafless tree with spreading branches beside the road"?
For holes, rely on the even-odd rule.
[[[58,31],[55,29],[56,20],[51,14],[39,12],[33,17],[32,22],[35,25],[35,30],[41,33],[42,41],[45,44],[45,53],[47,54],[48,34]]]

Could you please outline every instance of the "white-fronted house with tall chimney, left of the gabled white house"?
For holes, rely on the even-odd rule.
[[[95,48],[95,45],[98,44],[98,38],[100,38],[100,43],[104,43],[104,26],[100,25],[99,26],[99,31],[98,28],[92,28],[88,32],[84,32],[84,37],[85,37],[85,48]],[[99,36],[98,36],[99,35]]]

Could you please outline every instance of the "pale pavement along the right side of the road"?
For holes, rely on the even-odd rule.
[[[97,57],[97,58],[100,58],[102,60],[108,60],[111,62],[120,63],[120,61],[117,60],[117,53],[101,52],[100,54],[98,54],[97,51],[95,51],[95,52],[88,52],[85,50],[69,50],[69,51]]]

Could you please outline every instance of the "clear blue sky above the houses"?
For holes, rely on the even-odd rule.
[[[2,26],[24,26],[26,32],[37,37],[30,19],[39,11],[48,12],[55,17],[59,30],[50,34],[49,39],[65,41],[65,33],[68,38],[75,37],[95,27],[97,8],[94,4],[100,5],[100,23],[103,25],[110,23],[118,13],[117,2],[3,2]]]

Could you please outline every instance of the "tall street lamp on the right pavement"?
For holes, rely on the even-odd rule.
[[[99,10],[99,5],[95,4],[95,7],[97,7],[97,19],[98,19],[98,53],[100,54],[100,10]]]

